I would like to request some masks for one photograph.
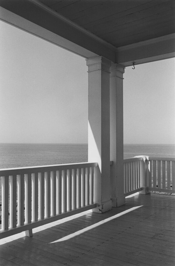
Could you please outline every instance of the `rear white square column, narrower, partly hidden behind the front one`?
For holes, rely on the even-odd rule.
[[[125,204],[123,170],[123,73],[125,68],[110,68],[110,160],[111,200],[113,207]]]

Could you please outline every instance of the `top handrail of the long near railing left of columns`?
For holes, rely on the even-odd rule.
[[[96,166],[98,166],[98,163],[68,163],[68,164],[43,165],[43,166],[31,166],[31,167],[20,167],[20,168],[4,168],[0,169],[0,176],[34,174],[34,173],[42,173],[48,171],[77,169],[77,168],[96,167]]]

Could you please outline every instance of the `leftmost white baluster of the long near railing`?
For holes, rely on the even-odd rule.
[[[8,230],[8,176],[2,177],[2,230]]]

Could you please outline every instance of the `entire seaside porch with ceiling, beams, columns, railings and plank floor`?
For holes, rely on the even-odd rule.
[[[125,67],[175,56],[174,1],[144,1],[141,5],[133,1],[130,7],[130,1],[125,6],[118,1],[108,5],[106,1],[105,5],[98,4],[100,8],[94,6],[94,1],[72,1],[71,11],[69,5],[60,6],[65,1],[54,2],[57,8],[52,9],[50,0],[17,1],[15,5],[1,0],[0,19],[86,58],[88,163],[0,170],[0,238],[5,241],[23,231],[31,236],[33,230],[33,237],[0,246],[0,264],[174,265],[174,196],[147,193],[175,193],[175,159],[143,156],[123,162]],[[90,6],[85,8],[85,2]],[[76,24],[69,13],[77,13],[77,4],[81,19]],[[106,11],[109,23],[106,33],[100,34]],[[157,13],[160,11],[168,18],[164,27],[162,16]],[[143,23],[145,12],[148,23]],[[93,22],[91,14],[102,19],[96,34],[90,27],[83,27]],[[113,15],[115,20],[111,23]],[[137,15],[140,19],[134,27]],[[129,22],[130,26],[119,30],[116,21],[119,28],[120,23]],[[113,25],[115,40],[125,42],[112,41],[109,24]],[[140,194],[126,198],[125,204],[125,197],[134,192]],[[84,211],[87,213],[81,215]],[[71,220],[71,215],[79,217]],[[60,222],[63,218],[64,223]],[[50,222],[53,227],[46,229]],[[43,230],[39,232],[36,227],[40,226]]]

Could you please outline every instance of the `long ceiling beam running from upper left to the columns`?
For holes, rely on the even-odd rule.
[[[34,0],[0,0],[0,19],[85,58],[115,62],[115,47]],[[113,47],[113,49],[111,49]]]

